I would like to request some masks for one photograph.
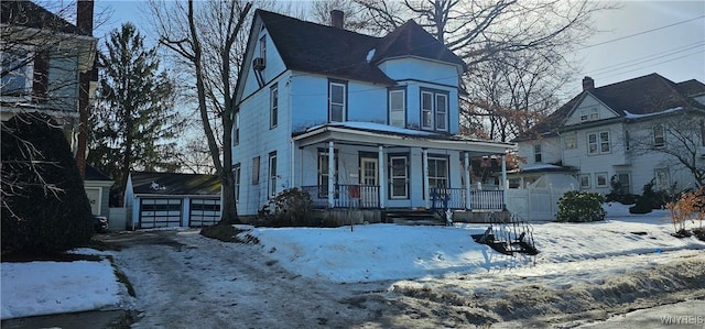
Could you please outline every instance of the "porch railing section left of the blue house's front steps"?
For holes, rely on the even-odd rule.
[[[336,184],[334,208],[379,208],[379,186]],[[328,185],[302,186],[311,196],[314,207],[328,207]]]

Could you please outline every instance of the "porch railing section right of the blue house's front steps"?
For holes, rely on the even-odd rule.
[[[502,190],[470,190],[470,205],[465,206],[465,188],[431,188],[432,209],[501,210],[505,207]]]

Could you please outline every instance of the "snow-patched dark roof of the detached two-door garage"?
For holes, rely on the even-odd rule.
[[[215,175],[176,173],[131,173],[135,195],[220,195],[220,179]]]

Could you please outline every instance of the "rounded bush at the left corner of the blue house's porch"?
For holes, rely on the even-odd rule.
[[[285,189],[271,202],[269,213],[261,213],[258,224],[268,227],[318,227],[311,219],[313,201],[308,193],[297,188]]]

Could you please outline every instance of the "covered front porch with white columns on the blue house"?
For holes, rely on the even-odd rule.
[[[316,208],[506,208],[505,184],[478,188],[468,168],[473,157],[498,156],[506,182],[505,154],[513,144],[345,122],[295,134],[293,145],[294,186]]]

